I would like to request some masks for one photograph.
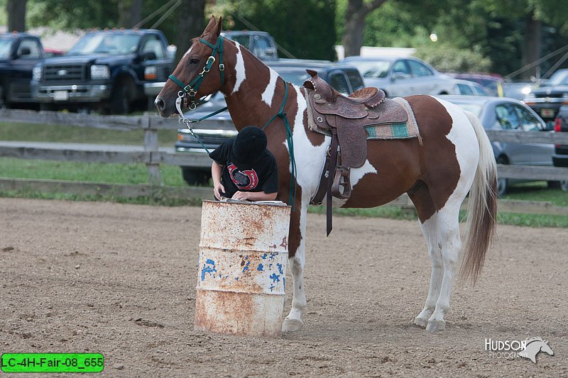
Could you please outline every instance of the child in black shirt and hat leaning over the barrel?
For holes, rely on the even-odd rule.
[[[278,167],[266,149],[266,134],[246,126],[235,138],[224,141],[209,157],[213,194],[249,201],[273,201],[278,194]]]

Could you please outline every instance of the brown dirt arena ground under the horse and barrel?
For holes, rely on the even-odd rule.
[[[325,238],[310,214],[305,326],[273,340],[193,330],[200,213],[0,199],[0,352],[101,352],[115,377],[568,377],[566,230],[500,226],[432,334],[412,323],[430,278],[415,221],[336,217]],[[484,349],[532,336],[554,356]]]

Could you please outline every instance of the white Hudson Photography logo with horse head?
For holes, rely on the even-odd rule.
[[[547,340],[542,338],[528,338],[526,340],[493,340],[485,339],[485,350],[491,358],[514,360],[515,358],[528,358],[537,363],[537,354],[545,352],[554,355]]]

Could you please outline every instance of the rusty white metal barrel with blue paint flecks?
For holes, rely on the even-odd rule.
[[[290,206],[203,201],[195,330],[280,336]]]

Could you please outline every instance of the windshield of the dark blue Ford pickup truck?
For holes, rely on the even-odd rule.
[[[136,51],[141,35],[93,33],[86,34],[67,55],[110,54],[124,55]]]

